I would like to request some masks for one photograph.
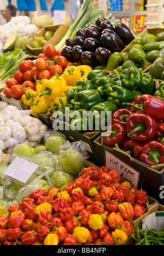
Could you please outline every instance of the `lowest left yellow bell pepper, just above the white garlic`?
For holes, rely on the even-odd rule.
[[[46,114],[49,108],[50,108],[50,101],[45,96],[41,98],[37,96],[31,105],[31,110],[33,111],[33,113],[37,113],[37,114],[38,113]]]

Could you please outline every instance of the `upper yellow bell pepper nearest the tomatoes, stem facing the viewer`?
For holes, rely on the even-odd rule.
[[[71,66],[65,69],[63,77],[69,86],[74,86],[81,79],[81,71],[79,67]]]

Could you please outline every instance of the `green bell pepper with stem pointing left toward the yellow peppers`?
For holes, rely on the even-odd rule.
[[[84,108],[90,110],[96,104],[102,102],[99,92],[95,89],[84,90],[78,92],[74,97],[74,100],[71,101],[71,104],[75,105],[74,110]]]

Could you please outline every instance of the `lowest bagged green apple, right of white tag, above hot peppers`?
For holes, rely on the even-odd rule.
[[[74,181],[74,176],[63,170],[56,170],[56,172],[51,175],[52,181],[55,183],[56,188],[61,188],[65,185],[71,184]]]

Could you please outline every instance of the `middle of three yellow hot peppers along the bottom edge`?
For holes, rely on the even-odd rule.
[[[77,226],[73,231],[73,236],[78,240],[79,243],[86,243],[90,237],[90,231],[83,226]]]

